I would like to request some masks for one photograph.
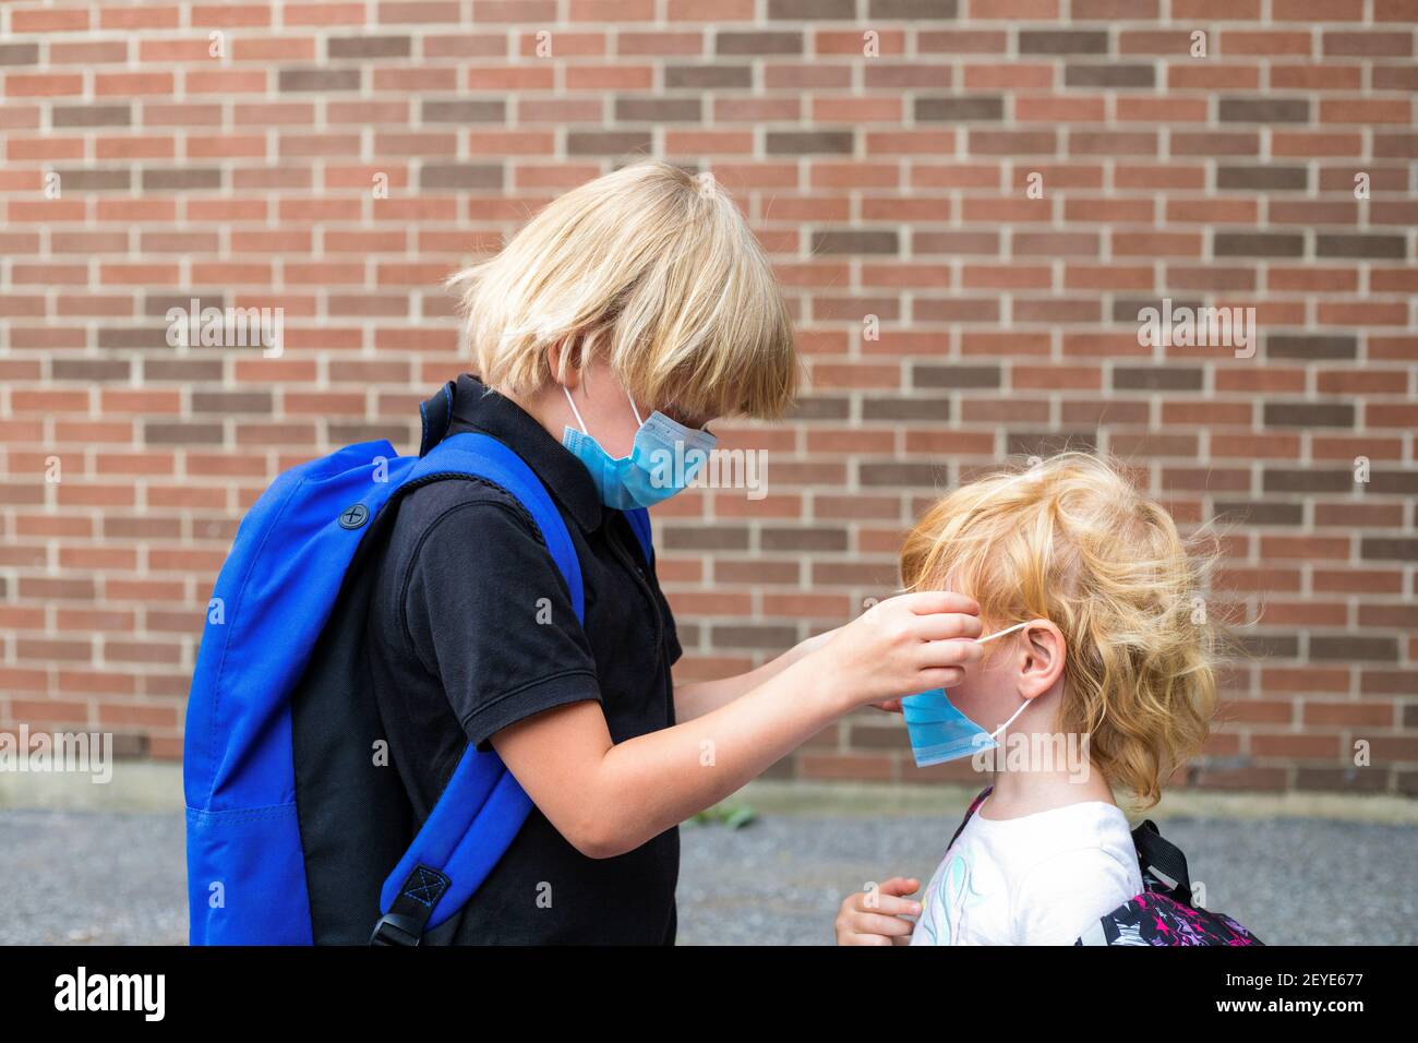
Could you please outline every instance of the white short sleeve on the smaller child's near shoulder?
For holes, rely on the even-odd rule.
[[[1099,917],[1137,887],[1127,868],[1102,847],[1081,847],[1045,859],[1020,881],[1014,894],[1015,945],[1072,945]]]

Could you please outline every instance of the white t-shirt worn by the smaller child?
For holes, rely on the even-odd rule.
[[[910,944],[1072,945],[1141,890],[1127,817],[1113,805],[1007,820],[977,810],[930,878]]]

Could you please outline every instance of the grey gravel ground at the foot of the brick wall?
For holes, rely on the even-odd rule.
[[[777,815],[682,830],[682,945],[818,945],[842,895],[896,873],[926,880],[957,823]],[[1262,941],[1418,944],[1418,827],[1173,819],[1212,908]],[[176,815],[0,812],[0,944],[186,941]]]

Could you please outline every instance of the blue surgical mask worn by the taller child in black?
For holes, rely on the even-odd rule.
[[[581,426],[581,430],[567,427],[562,434],[562,444],[591,473],[601,502],[617,511],[654,507],[681,492],[719,441],[709,431],[685,427],[659,410],[651,413],[648,420],[641,420],[635,400],[627,393],[640,430],[635,431],[630,456],[615,460],[586,430],[581,412],[564,385],[562,392],[576,414],[576,423]]]

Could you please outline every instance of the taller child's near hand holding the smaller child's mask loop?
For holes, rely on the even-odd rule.
[[[971,597],[922,592],[888,597],[832,633],[813,653],[849,707],[891,702],[964,680],[983,654],[980,606]]]

